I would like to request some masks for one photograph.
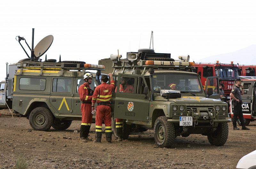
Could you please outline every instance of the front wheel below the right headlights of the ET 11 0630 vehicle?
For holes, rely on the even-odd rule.
[[[207,138],[212,145],[224,145],[228,139],[228,123],[219,123],[217,129],[213,133],[209,133]]]

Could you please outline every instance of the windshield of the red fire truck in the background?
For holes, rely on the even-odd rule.
[[[234,67],[219,67],[215,69],[216,76],[227,78],[227,79],[236,79],[238,76],[238,68]]]

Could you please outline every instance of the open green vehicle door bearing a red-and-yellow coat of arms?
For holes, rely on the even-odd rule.
[[[121,92],[124,87],[121,85],[122,79],[126,78],[126,92]],[[149,99],[143,94],[144,87],[147,86],[145,78],[140,75],[118,74],[116,87],[116,100],[114,118],[148,121]]]

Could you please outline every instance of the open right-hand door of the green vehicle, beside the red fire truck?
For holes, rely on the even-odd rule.
[[[220,99],[219,77],[207,77],[205,84],[205,96],[211,99]]]

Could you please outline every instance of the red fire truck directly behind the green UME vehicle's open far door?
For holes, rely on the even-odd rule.
[[[239,75],[238,66],[231,62],[230,64],[220,63],[195,63],[195,72],[200,75],[202,84],[205,88],[206,78],[211,76],[219,76],[224,85],[224,94],[226,102],[229,106],[230,92],[234,85],[234,81]]]

